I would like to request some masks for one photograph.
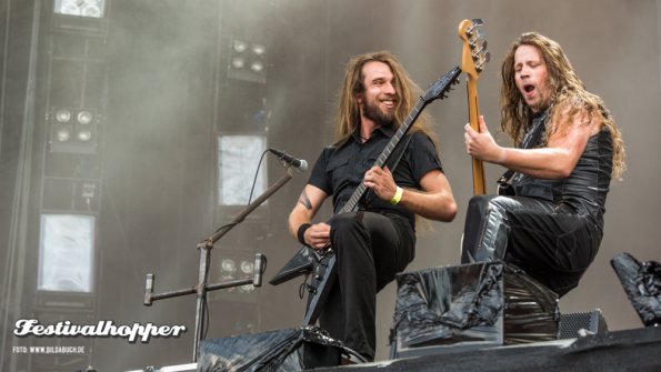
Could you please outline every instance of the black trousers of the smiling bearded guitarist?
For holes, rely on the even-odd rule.
[[[405,218],[364,211],[338,214],[330,225],[338,280],[319,325],[371,361],[377,344],[377,292],[413,260],[415,234]]]

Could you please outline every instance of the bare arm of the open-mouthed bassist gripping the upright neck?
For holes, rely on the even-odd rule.
[[[495,143],[484,118],[480,117],[478,133],[470,125],[465,129],[465,148],[469,154],[494,164],[540,179],[561,179],[571,174],[585,150],[590,135],[601,128],[601,121],[585,121],[581,112],[570,118],[560,130],[551,133],[548,145],[538,149],[503,148]]]

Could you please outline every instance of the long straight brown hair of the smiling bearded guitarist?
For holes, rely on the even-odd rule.
[[[411,80],[402,64],[391,52],[378,51],[353,57],[347,64],[344,81],[339,94],[338,112],[335,114],[335,144],[347,141],[360,124],[360,104],[357,97],[365,90],[362,68],[371,61],[388,64],[394,76],[394,88],[398,95],[394,111],[395,129],[407,119],[409,112],[415,105],[418,97],[420,97],[420,88]],[[437,144],[435,137],[427,128],[429,121],[429,115],[423,112],[415,120],[410,132],[423,132]]]

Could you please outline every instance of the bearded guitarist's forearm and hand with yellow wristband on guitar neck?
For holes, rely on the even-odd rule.
[[[373,167],[364,177],[365,187],[382,200],[394,197],[397,184],[388,168]],[[445,174],[438,169],[429,171],[420,180],[422,191],[404,189],[400,205],[427,219],[450,222],[457,214],[457,203]]]

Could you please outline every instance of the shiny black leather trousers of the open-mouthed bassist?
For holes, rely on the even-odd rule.
[[[501,259],[562,296],[597,255],[602,231],[572,208],[524,197],[473,197],[461,262]]]

